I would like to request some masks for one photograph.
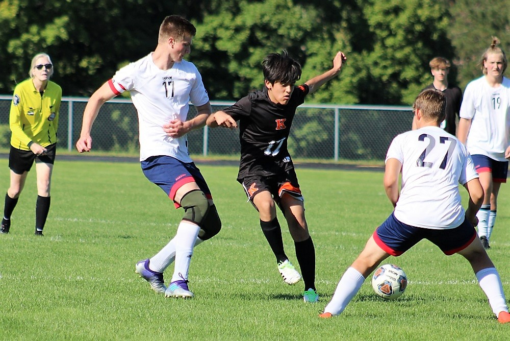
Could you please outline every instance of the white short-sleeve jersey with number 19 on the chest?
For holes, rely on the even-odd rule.
[[[466,145],[471,155],[481,154],[496,161],[507,161],[510,145],[510,80],[503,77],[500,87],[492,88],[485,76],[471,81],[464,91],[462,118],[471,119]]]

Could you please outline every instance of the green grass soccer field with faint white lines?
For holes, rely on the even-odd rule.
[[[34,236],[33,169],[11,233],[0,235],[0,340],[508,339],[510,325],[494,319],[468,262],[444,256],[428,241],[385,261],[401,266],[409,279],[400,299],[383,301],[367,280],[343,314],[317,318],[342,273],[391,213],[382,173],[297,169],[320,294],[318,304],[305,304],[302,282],[289,286],[279,276],[258,214],[235,180],[237,168],[199,167],[223,228],[195,249],[190,270],[195,297],[189,300],[157,295],[134,273],[138,260],[173,237],[183,214],[145,179],[139,164],[57,159],[42,238]],[[6,159],[0,159],[0,169],[5,193]],[[508,186],[500,191],[489,251],[507,302]],[[287,254],[297,265],[279,218]]]

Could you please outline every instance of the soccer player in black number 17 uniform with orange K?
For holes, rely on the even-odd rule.
[[[301,65],[287,51],[270,54],[262,62],[263,90],[249,93],[207,119],[211,128],[237,128],[239,120],[241,161],[237,180],[259,211],[260,226],[276,256],[279,273],[286,283],[295,284],[301,276],[285,254],[276,205],[283,212],[294,239],[305,302],[319,299],[315,287],[315,248],[304,217],[303,197],[287,141],[296,108],[306,95],[337,76],[344,61],[345,55],[338,52],[331,69],[296,87]]]

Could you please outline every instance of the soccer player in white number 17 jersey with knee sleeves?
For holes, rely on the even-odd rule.
[[[97,89],[83,113],[83,125],[76,148],[80,153],[92,148],[90,131],[100,107],[124,91],[138,112],[140,163],[144,175],[165,191],[176,208],[184,208],[175,236],[150,259],[139,261],[135,272],[166,297],[193,297],[188,287],[188,271],[193,247],[216,235],[221,221],[211,191],[199,169],[190,159],[186,134],[205,126],[211,105],[201,76],[190,62],[196,29],[177,15],[161,24],[156,50],[118,70],[111,80]],[[192,103],[197,114],[187,119]],[[170,285],[163,272],[174,262]]]

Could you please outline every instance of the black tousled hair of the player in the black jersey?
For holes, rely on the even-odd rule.
[[[271,84],[294,84],[301,78],[301,65],[283,50],[282,54],[272,53],[264,58],[262,72],[264,80]]]

